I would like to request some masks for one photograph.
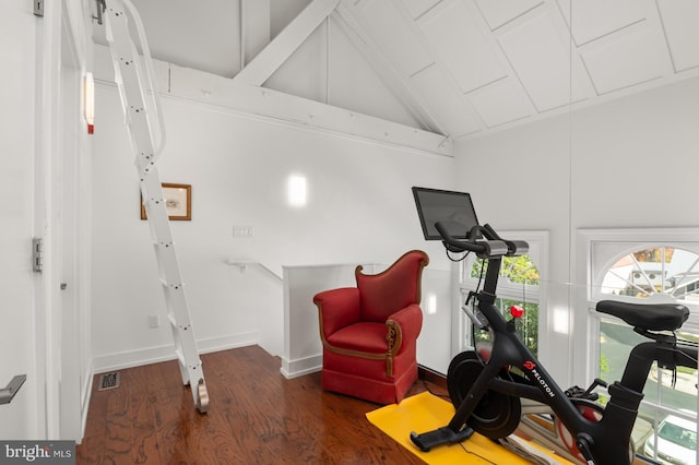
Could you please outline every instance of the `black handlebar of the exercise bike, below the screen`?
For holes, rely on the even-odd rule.
[[[435,228],[442,238],[442,243],[450,252],[474,252],[481,259],[489,259],[495,257],[518,257],[529,251],[529,243],[523,240],[506,240],[490,227],[490,225],[476,226],[471,230],[471,239],[454,239],[447,228],[437,222]],[[481,233],[485,240],[476,240],[476,234]]]

